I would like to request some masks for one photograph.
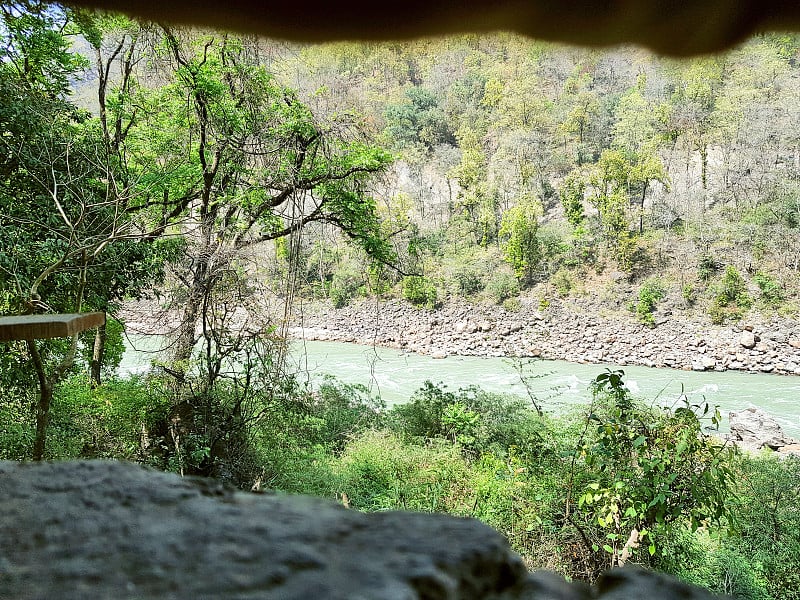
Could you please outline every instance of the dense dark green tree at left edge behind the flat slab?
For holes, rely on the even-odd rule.
[[[127,216],[109,196],[96,121],[70,101],[69,78],[86,65],[66,37],[74,20],[35,2],[4,5],[2,19],[0,288],[6,309],[108,310],[112,301],[151,285],[161,270],[130,236]],[[77,336],[26,344],[40,390],[35,459],[44,455],[53,389],[73,369],[77,349]],[[93,363],[99,381],[102,348]]]

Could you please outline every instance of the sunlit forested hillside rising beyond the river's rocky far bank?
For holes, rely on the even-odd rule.
[[[396,157],[379,195],[401,270],[377,284],[309,233],[305,281],[338,304],[396,282],[421,304],[537,285],[546,301],[622,272],[644,322],[666,294],[715,322],[793,313],[798,51],[791,35],[684,61],[509,35],[276,45],[282,80],[316,110],[357,110]]]

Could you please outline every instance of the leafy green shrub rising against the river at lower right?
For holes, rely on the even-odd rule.
[[[702,431],[701,407],[687,403],[672,412],[641,406],[622,375],[608,371],[594,381],[588,422],[595,430],[581,447],[588,483],[578,500],[587,523],[605,532],[596,546],[611,555],[612,565],[635,553],[632,535],[646,538],[652,556],[658,526],[679,523],[695,531],[720,523],[735,481],[731,452]],[[706,405],[701,416],[707,411]],[[715,411],[712,422],[719,420]]]

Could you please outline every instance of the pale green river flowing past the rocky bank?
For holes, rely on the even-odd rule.
[[[124,374],[146,370],[161,338],[131,336],[120,365]],[[387,405],[403,402],[426,380],[449,389],[478,385],[481,388],[527,397],[514,364],[509,359],[429,356],[388,348],[339,342],[292,344],[290,363],[311,380],[331,374],[347,383],[367,386]],[[774,417],[784,432],[800,438],[800,377],[739,371],[677,371],[647,367],[575,364],[564,361],[528,362],[524,376],[528,389],[547,412],[584,403],[589,384],[606,368],[622,369],[625,382],[638,398],[672,406],[685,395],[693,404],[719,405],[724,417],[730,411],[758,406]],[[725,423],[723,422],[723,426]]]

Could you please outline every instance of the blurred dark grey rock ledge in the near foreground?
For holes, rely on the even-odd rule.
[[[121,462],[0,462],[0,598],[711,598],[643,571],[529,574],[471,519],[362,514]]]

